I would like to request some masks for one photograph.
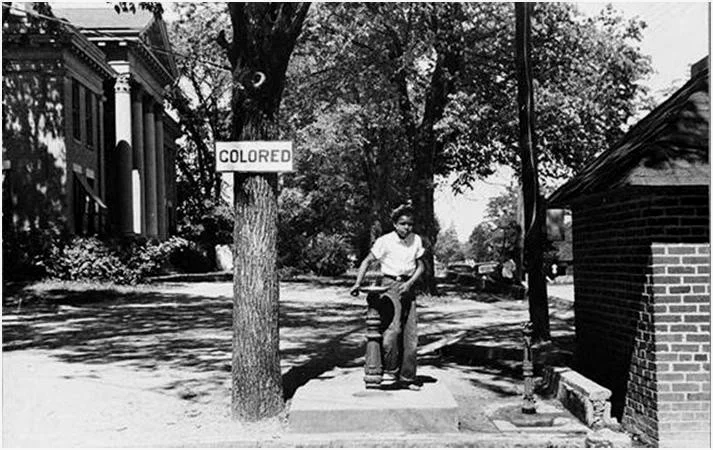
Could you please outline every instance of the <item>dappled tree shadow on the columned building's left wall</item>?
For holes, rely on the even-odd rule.
[[[63,69],[28,60],[28,32],[37,30],[11,25],[3,31],[3,279],[22,279],[36,276],[33,257],[65,231],[72,172]]]

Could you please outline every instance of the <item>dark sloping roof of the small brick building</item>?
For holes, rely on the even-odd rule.
[[[626,185],[710,185],[709,65],[557,189],[549,206]]]

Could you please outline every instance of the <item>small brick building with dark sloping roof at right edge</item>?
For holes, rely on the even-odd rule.
[[[710,446],[708,58],[549,199],[572,211],[575,369],[644,442]]]

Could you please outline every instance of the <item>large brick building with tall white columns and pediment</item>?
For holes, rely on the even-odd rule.
[[[167,237],[178,127],[163,110],[177,76],[165,24],[24,5],[3,7],[3,225]]]

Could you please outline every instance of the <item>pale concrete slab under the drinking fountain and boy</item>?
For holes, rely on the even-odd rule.
[[[458,405],[427,373],[420,391],[364,387],[364,371],[340,369],[297,389],[290,406],[293,433],[449,433],[458,431]]]

